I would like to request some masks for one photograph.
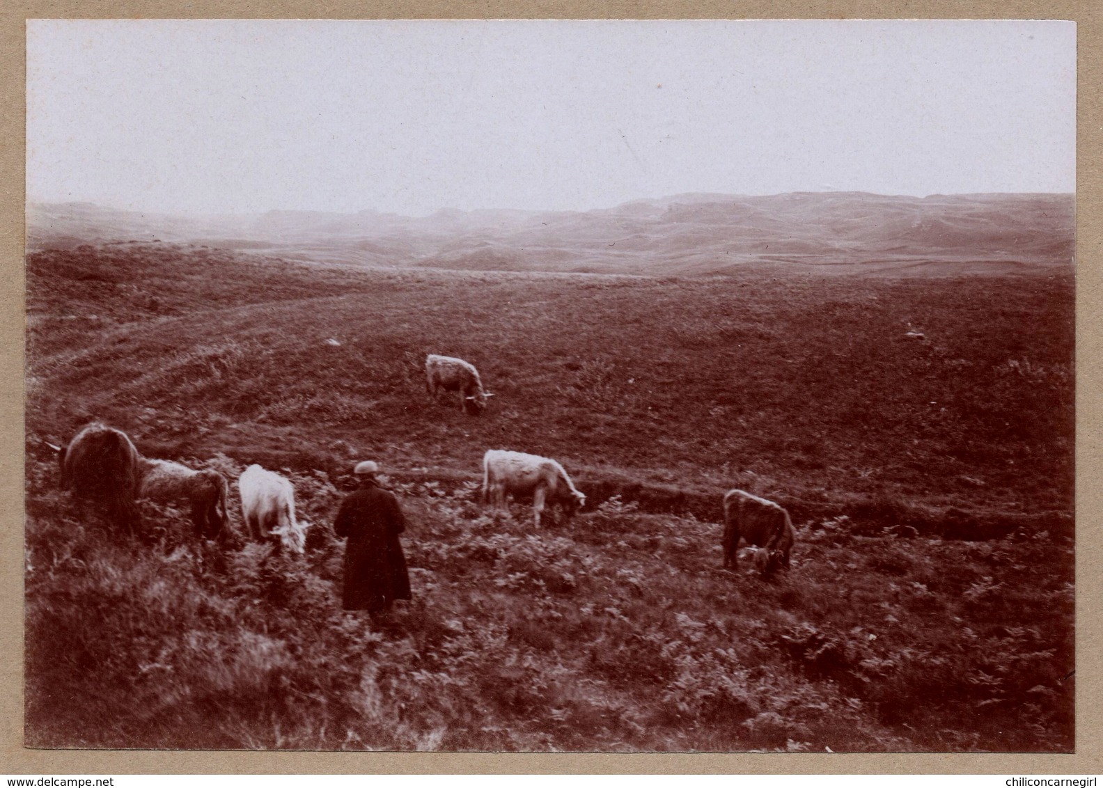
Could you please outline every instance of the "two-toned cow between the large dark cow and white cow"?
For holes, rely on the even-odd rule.
[[[190,504],[196,538],[219,539],[225,536],[228,489],[221,473],[193,471],[169,460],[142,457],[138,464],[141,473],[140,498],[160,504]]]

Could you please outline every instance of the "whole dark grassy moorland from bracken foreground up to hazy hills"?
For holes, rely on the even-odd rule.
[[[1070,751],[1072,295],[1071,270],[32,253],[28,744]],[[479,367],[483,417],[429,400],[427,353]],[[133,541],[78,518],[44,442],[92,418],[232,477],[286,468],[307,555],[196,546],[151,505]],[[490,447],[558,458],[586,510],[490,516]],[[363,457],[411,521],[415,600],[382,628],[336,593]],[[719,571],[732,486],[793,514],[789,572]]]

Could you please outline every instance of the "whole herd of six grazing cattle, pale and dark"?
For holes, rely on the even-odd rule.
[[[458,392],[463,410],[482,413],[488,392],[473,365],[460,358],[430,355],[425,361],[426,387],[437,400],[439,392]],[[57,450],[61,485],[78,501],[95,501],[109,518],[130,532],[139,525],[138,500],[182,504],[190,508],[197,539],[222,541],[227,532],[228,485],[217,471],[193,469],[178,462],[141,456],[120,430],[93,422],[67,446]],[[255,541],[272,541],[277,550],[302,553],[309,522],[295,514],[291,483],[260,465],[249,465],[237,479],[246,535]],[[535,454],[491,449],[483,455],[483,501],[506,506],[506,496],[532,499],[539,528],[545,508],[557,505],[572,517],[586,505],[586,495],[575,487],[555,460]],[[754,564],[762,575],[788,568],[793,548],[793,525],[778,504],[740,489],[724,496],[724,568],[735,570],[740,540],[761,548]]]

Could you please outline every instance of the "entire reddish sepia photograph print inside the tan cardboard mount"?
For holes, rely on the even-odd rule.
[[[1077,751],[1074,22],[25,36],[25,747]]]

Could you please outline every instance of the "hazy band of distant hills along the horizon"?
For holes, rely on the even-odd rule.
[[[88,203],[28,206],[32,250],[154,239],[373,267],[1005,273],[1068,266],[1075,223],[1071,194],[681,194],[587,212],[446,209],[419,218],[373,211],[173,216]]]

